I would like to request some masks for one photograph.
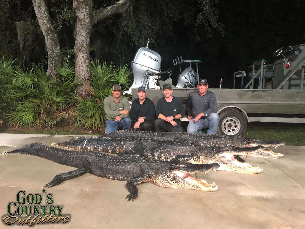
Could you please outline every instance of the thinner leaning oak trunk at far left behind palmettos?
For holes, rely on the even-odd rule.
[[[56,75],[57,67],[61,64],[59,40],[49,16],[48,8],[44,0],[32,0],[38,24],[45,37],[45,45],[48,52],[47,75]]]

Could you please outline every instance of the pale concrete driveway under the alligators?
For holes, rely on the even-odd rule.
[[[0,134],[0,152],[32,142],[50,145],[74,136]],[[126,202],[123,181],[85,174],[47,188],[53,205],[64,205],[66,224],[48,228],[305,228],[305,147],[284,146],[280,159],[247,158],[260,174],[210,172],[199,174],[219,187],[216,192],[139,184],[138,199]],[[18,191],[42,194],[43,186],[74,168],[28,155],[0,155],[0,216]],[[16,209],[16,208],[15,208]],[[24,218],[24,217],[23,217]],[[1,220],[2,221],[2,220]],[[14,224],[12,228],[21,228]],[[28,226],[23,226],[28,227]],[[0,228],[6,228],[3,221]]]

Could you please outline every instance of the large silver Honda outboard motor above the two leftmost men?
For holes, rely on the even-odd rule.
[[[146,47],[141,47],[135,54],[135,58],[131,62],[131,69],[134,75],[134,82],[127,94],[131,94],[132,88],[140,86],[146,87],[149,75],[158,74],[161,70],[161,56],[155,51],[148,48],[148,40]]]

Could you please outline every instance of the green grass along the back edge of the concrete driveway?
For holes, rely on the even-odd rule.
[[[182,122],[183,123],[183,122]],[[187,123],[182,126],[186,130]],[[52,129],[36,128],[4,128],[0,133],[30,133],[30,134],[62,134],[62,135],[102,135],[101,132],[92,132],[70,125],[56,126]],[[265,123],[251,122],[247,125],[245,137],[261,138],[264,140],[283,140],[286,145],[305,146],[305,123]]]

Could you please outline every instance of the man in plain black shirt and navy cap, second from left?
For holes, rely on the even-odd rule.
[[[138,87],[138,99],[131,104],[129,117],[135,120],[132,130],[152,131],[155,117],[155,104],[146,97],[145,87]]]

